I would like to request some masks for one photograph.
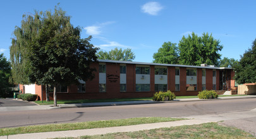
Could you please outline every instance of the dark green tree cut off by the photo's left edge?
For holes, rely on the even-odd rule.
[[[6,97],[10,91],[9,77],[11,76],[11,65],[4,54],[0,54],[0,97]]]

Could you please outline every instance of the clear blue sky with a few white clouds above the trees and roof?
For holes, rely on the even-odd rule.
[[[23,14],[54,9],[57,3],[71,16],[71,24],[82,27],[82,38],[103,51],[131,48],[135,60],[153,61],[164,42],[178,44],[183,35],[212,33],[223,45],[222,57],[240,59],[256,38],[256,1],[145,1],[94,0],[1,1],[0,53],[9,59],[15,26]]]

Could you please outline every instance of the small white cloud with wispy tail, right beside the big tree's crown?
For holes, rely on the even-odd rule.
[[[86,33],[88,35],[100,35],[102,32],[101,30],[102,27],[113,24],[113,23],[115,23],[115,21],[106,21],[104,23],[99,23],[98,25],[85,27],[84,29],[86,30]]]

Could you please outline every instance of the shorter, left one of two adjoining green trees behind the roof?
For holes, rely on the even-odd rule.
[[[178,47],[171,42],[164,42],[153,55],[153,63],[178,64]]]

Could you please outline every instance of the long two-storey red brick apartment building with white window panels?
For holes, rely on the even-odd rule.
[[[231,90],[235,87],[232,68],[206,64],[186,66],[99,60],[90,66],[97,69],[95,78],[87,82],[80,81],[80,85],[58,85],[58,100],[152,97],[161,90],[171,90],[177,96],[197,95],[202,90]],[[39,100],[46,100],[46,87],[20,85],[20,90],[39,95]],[[50,100],[52,96],[50,88]]]

